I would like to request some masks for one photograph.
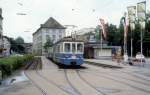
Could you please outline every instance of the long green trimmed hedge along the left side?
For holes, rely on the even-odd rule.
[[[19,69],[23,63],[29,62],[34,58],[33,55],[24,56],[9,56],[0,59],[0,71],[2,71],[3,77],[11,75],[13,71]]]

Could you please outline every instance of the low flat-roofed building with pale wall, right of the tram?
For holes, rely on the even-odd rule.
[[[85,58],[111,58],[112,49],[118,50],[120,46],[108,46],[106,42],[102,44],[100,42],[88,42],[84,45],[84,57]]]

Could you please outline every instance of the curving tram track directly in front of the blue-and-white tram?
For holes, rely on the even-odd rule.
[[[76,92],[79,92],[79,95],[106,95],[104,92],[96,89],[96,87],[83,79],[77,69],[67,69],[64,70],[64,73],[70,86],[74,88]]]

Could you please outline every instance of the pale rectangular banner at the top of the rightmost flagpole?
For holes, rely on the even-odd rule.
[[[146,1],[137,3],[137,17],[140,22],[146,19]]]

